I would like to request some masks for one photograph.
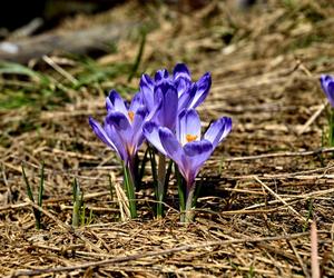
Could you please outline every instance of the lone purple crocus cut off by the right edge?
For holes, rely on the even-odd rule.
[[[334,147],[334,77],[328,75],[322,75],[320,80],[322,89],[325,92],[327,100],[331,105],[331,109],[328,112],[328,145],[330,147]]]

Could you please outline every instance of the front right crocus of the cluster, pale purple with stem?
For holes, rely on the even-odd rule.
[[[213,122],[202,137],[200,120],[195,109],[184,110],[177,120],[176,132],[155,122],[144,125],[144,135],[161,153],[178,166],[186,180],[185,221],[193,218],[191,205],[195,192],[195,178],[217,145],[232,130],[232,119],[223,117]]]

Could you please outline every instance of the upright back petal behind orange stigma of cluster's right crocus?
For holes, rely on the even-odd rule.
[[[179,115],[176,137],[183,146],[200,139],[200,120],[195,109],[184,110]]]

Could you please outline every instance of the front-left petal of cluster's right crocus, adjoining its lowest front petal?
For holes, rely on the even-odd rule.
[[[159,138],[167,156],[179,167],[184,166],[184,150],[175,135],[165,127],[159,128]]]

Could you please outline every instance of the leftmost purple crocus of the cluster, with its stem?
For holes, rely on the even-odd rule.
[[[91,117],[89,123],[110,149],[115,150],[124,161],[125,183],[130,203],[131,217],[136,217],[135,205],[135,156],[144,141],[143,125],[148,110],[143,106],[141,93],[138,92],[127,108],[122,98],[112,90],[106,100],[107,116],[104,126]]]

